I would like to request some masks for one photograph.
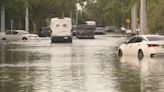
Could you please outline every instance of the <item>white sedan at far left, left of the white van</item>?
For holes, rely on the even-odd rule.
[[[30,34],[24,30],[10,30],[5,32],[5,34],[0,35],[0,40],[5,40],[5,41],[17,41],[17,40],[28,40],[28,39],[38,39],[38,35]]]

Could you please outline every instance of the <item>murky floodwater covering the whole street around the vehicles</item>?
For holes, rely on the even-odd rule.
[[[164,58],[118,58],[125,39],[0,43],[0,92],[164,92]]]

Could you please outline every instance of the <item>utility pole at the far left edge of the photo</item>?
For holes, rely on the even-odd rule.
[[[5,32],[5,7],[1,7],[1,32]]]

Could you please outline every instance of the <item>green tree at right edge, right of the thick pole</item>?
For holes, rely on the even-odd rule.
[[[164,1],[150,0],[148,2],[148,25],[152,33],[164,34]]]

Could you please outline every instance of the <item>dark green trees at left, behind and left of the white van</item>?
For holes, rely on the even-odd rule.
[[[75,16],[76,0],[0,0],[0,6],[6,8],[6,27],[10,29],[13,20],[14,29],[23,29],[25,7],[29,8],[30,31],[37,32],[46,26],[46,19],[52,17]]]

